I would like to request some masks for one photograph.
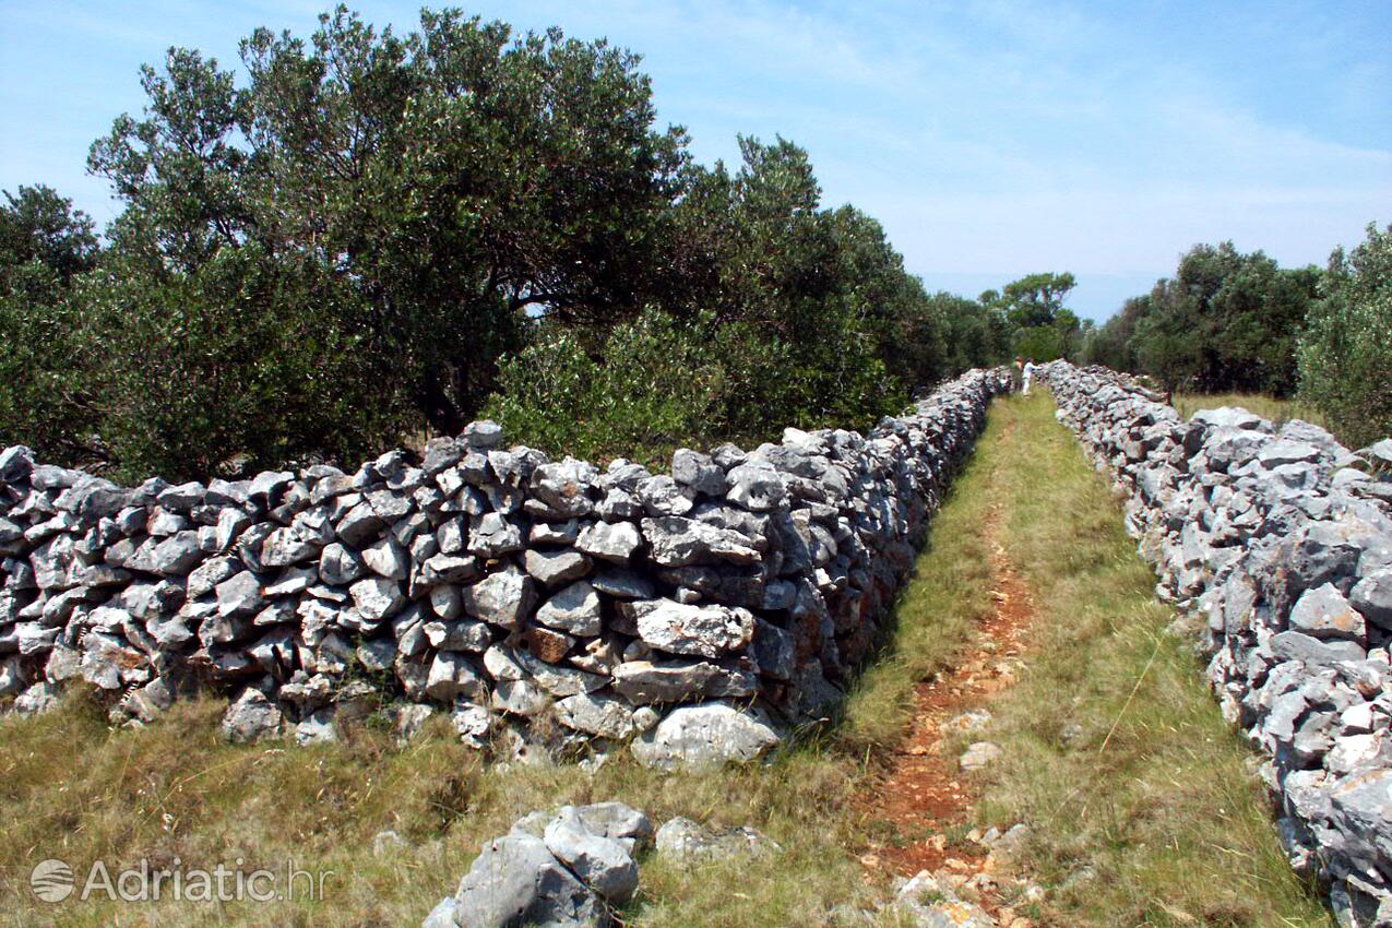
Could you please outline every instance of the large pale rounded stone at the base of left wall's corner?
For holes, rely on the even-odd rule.
[[[724,703],[704,703],[674,710],[631,750],[643,765],[671,771],[749,762],[780,740],[763,718]]]

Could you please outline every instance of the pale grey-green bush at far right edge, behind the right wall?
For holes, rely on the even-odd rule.
[[[1329,257],[1299,358],[1302,397],[1345,441],[1392,434],[1392,225]]]

